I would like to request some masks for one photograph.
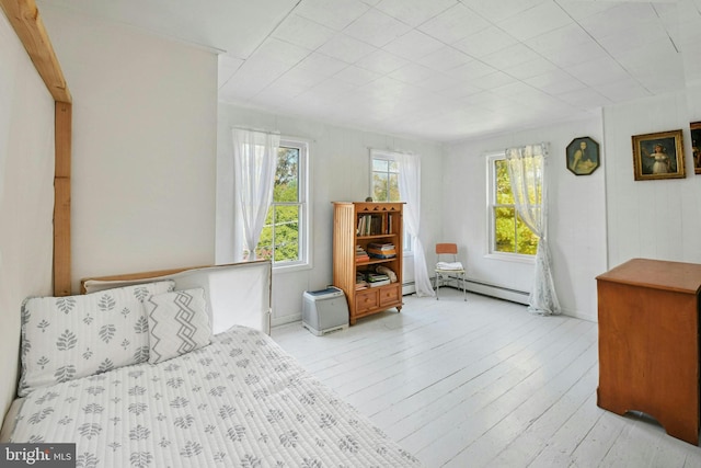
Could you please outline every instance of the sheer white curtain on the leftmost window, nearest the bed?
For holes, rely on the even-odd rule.
[[[232,129],[235,206],[243,222],[243,249],[234,251],[234,261],[255,259],[255,247],[261,238],[265,216],[273,199],[279,135]],[[234,244],[239,244],[235,242]]]

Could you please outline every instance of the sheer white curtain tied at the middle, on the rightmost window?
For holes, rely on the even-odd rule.
[[[522,221],[538,236],[533,286],[529,310],[541,315],[560,313],[560,301],[552,279],[548,247],[548,145],[528,145],[506,150],[514,204]]]

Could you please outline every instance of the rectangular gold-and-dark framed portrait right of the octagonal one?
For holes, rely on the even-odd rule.
[[[636,181],[686,178],[681,130],[634,135],[632,138]]]

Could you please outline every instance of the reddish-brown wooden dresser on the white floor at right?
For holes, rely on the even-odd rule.
[[[597,276],[597,404],[699,443],[701,265],[633,259]]]

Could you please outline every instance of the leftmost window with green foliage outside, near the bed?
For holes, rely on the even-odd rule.
[[[307,144],[280,140],[273,203],[255,249],[274,267],[308,263],[307,155]]]

